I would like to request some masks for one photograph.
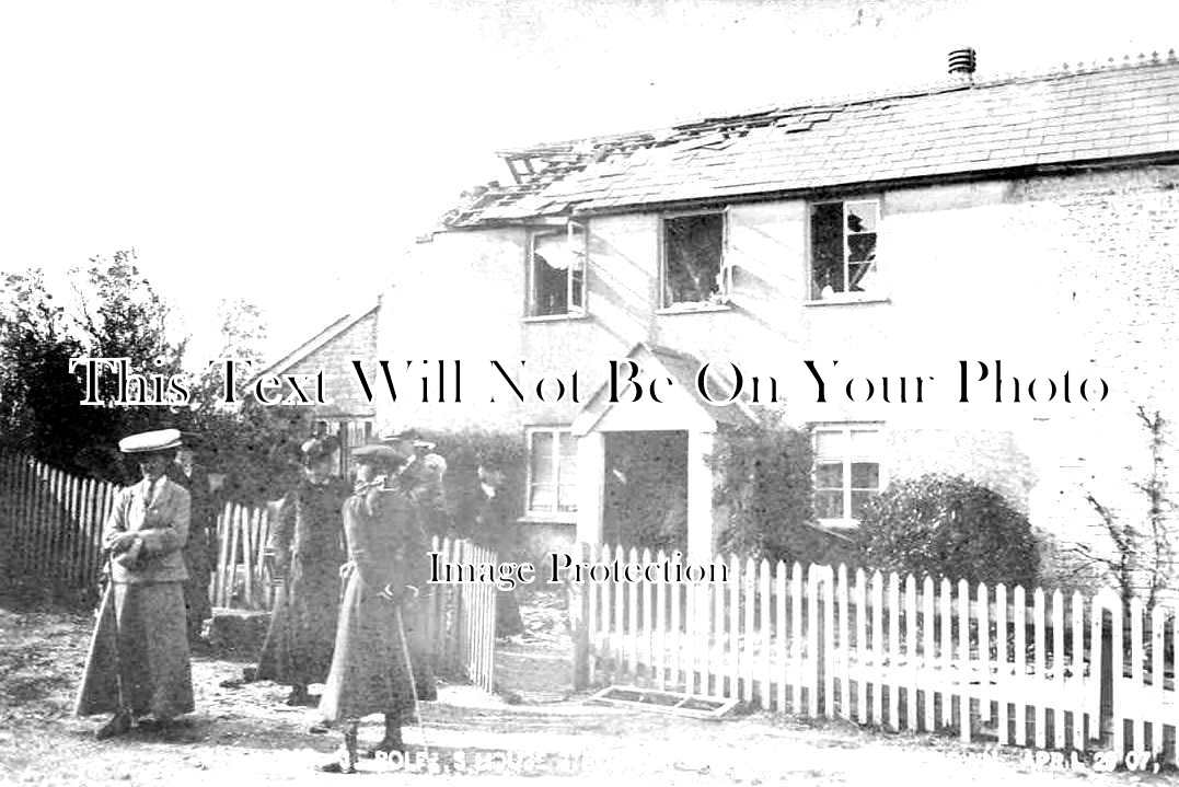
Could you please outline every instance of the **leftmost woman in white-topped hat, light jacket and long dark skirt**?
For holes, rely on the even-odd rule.
[[[119,491],[103,530],[110,582],[86,657],[77,713],[112,713],[99,739],[127,732],[152,714],[166,727],[190,713],[192,668],[184,609],[189,492],[165,475],[180,432],[143,432],[119,441],[139,458],[143,481]]]

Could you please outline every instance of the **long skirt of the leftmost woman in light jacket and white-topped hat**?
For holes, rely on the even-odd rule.
[[[190,713],[192,667],[179,582],[111,583],[103,595],[78,692],[77,714],[114,713],[166,720]],[[118,664],[118,668],[117,668]]]

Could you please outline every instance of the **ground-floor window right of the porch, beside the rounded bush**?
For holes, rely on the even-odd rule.
[[[851,523],[881,491],[883,437],[872,426],[815,429],[815,515]]]

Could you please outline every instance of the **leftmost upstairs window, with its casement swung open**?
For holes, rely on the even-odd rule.
[[[585,225],[528,236],[528,316],[582,315],[586,304]]]

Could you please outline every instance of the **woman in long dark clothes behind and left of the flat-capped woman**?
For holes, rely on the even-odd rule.
[[[258,680],[291,687],[286,705],[308,705],[307,687],[331,667],[344,562],[341,507],[348,487],[331,476],[334,437],[303,443],[304,477],[278,509],[264,558],[279,593],[258,657]]]

